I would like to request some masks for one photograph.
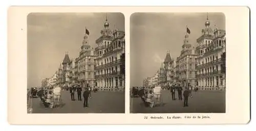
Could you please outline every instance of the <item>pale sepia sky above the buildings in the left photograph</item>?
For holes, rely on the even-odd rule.
[[[84,29],[90,32],[89,45],[97,47],[95,40],[104,28],[106,13],[30,13],[28,25],[28,87],[40,86],[41,80],[51,77],[69,52],[78,56]],[[108,13],[110,29],[124,31],[124,16]]]

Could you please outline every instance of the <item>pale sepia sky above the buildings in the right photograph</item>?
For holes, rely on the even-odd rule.
[[[197,46],[197,38],[205,28],[207,13],[134,13],[130,18],[130,86],[142,86],[164,61],[167,50],[173,60],[180,56],[186,25],[189,43]],[[210,28],[225,30],[223,13],[208,13]]]

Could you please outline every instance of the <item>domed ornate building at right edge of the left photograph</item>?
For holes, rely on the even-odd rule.
[[[124,31],[109,29],[108,18],[101,30],[101,36],[96,40],[97,64],[96,86],[99,90],[123,90],[125,83],[125,39]]]

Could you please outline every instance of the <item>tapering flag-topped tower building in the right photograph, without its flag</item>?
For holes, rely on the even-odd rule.
[[[185,35],[182,45],[182,51],[180,56],[176,60],[176,75],[178,75],[178,82],[183,86],[187,86],[188,83],[192,86],[196,86],[196,65],[197,54],[195,48],[188,42],[188,35]]]

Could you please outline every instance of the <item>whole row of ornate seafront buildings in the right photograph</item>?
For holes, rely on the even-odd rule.
[[[197,47],[191,45],[184,36],[180,56],[172,60],[169,51],[156,74],[143,80],[143,86],[155,86],[159,83],[170,85],[188,83],[199,90],[226,90],[226,32],[217,27],[210,28],[210,21],[205,21],[205,28],[196,40]]]

